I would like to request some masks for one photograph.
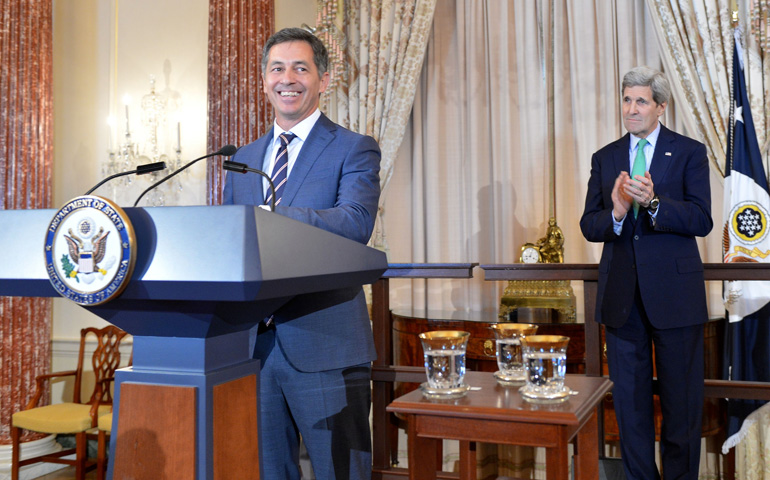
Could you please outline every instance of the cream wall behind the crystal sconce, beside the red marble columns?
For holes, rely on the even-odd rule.
[[[275,3],[277,28],[315,25],[315,0]],[[159,143],[173,153],[179,121],[182,161],[206,153],[208,0],[54,0],[53,8],[54,207],[104,178],[110,144],[114,148],[124,136],[126,94],[132,140],[147,144],[140,103],[149,93],[150,75],[157,92],[181,100],[169,112]],[[113,181],[94,194],[130,206],[149,183],[140,178],[131,187],[113,190],[117,185]],[[178,204],[205,203],[204,188],[205,168],[196,164],[184,178]],[[73,368],[80,329],[105,324],[69,300],[54,299],[53,368]],[[64,391],[65,385],[54,386],[54,401]]]

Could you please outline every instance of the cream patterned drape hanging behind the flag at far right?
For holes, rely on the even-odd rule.
[[[770,62],[759,45],[758,22],[763,2],[734,0],[647,0],[661,57],[673,94],[688,130],[706,144],[712,167],[724,176],[727,130],[730,115],[730,76],[733,59],[733,4],[739,7],[746,80],[757,140],[766,158],[770,96]],[[764,8],[767,5],[764,4]],[[765,20],[767,12],[763,13]],[[765,35],[766,26],[761,26]],[[765,160],[767,169],[767,160]]]

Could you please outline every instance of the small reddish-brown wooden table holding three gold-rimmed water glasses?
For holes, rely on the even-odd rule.
[[[491,373],[468,372],[473,389],[459,399],[427,399],[420,390],[391,403],[407,418],[409,478],[435,479],[441,439],[460,441],[460,478],[476,478],[475,442],[545,447],[546,478],[569,478],[568,444],[575,439],[575,479],[599,478],[597,408],[612,382],[567,375],[577,395],[556,404],[524,400],[519,387],[497,384]],[[481,387],[479,390],[474,387]]]

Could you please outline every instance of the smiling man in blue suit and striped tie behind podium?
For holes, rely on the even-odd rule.
[[[275,124],[234,160],[273,172],[275,192],[260,176],[229,174],[224,203],[269,209],[274,200],[276,214],[366,243],[380,196],[380,150],[319,110],[328,64],[321,41],[303,29],[281,30],[265,43],[262,81]],[[262,362],[263,479],[300,478],[300,435],[317,479],[370,478],[375,356],[361,287],[297,296],[260,323],[254,357]]]

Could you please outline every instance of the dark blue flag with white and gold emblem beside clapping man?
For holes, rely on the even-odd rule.
[[[733,48],[733,135],[727,145],[725,176],[724,263],[770,262],[768,210],[770,189],[749,108],[740,32]],[[770,282],[725,282],[729,314],[725,339],[725,378],[770,381]],[[764,401],[728,401],[727,451],[745,434],[746,417]]]

